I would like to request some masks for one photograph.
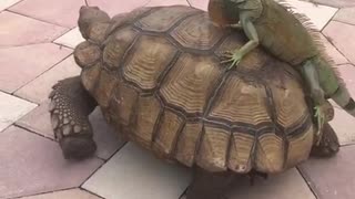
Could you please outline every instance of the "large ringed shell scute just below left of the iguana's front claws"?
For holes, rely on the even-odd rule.
[[[184,53],[169,72],[160,94],[168,104],[201,115],[221,75],[217,59]]]

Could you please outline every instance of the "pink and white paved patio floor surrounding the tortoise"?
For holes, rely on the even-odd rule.
[[[287,0],[322,31],[327,52],[355,96],[355,0]],[[78,75],[73,48],[82,4],[111,15],[140,6],[207,0],[0,0],[0,198],[178,199],[191,172],[121,140],[97,109],[90,117],[99,149],[83,161],[64,160],[49,122],[48,94],[61,78]],[[229,199],[354,199],[355,119],[336,106],[332,125],[342,149],[335,158],[310,159],[250,187],[235,185]]]

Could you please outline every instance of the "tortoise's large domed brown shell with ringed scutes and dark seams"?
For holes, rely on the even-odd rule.
[[[288,65],[257,49],[226,71],[221,53],[244,44],[242,32],[189,7],[133,12],[112,20],[102,59],[82,72],[119,133],[210,171],[278,172],[308,157],[314,126]]]

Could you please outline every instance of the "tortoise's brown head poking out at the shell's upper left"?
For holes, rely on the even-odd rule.
[[[98,7],[87,7],[80,8],[78,25],[79,30],[84,39],[89,39],[90,27],[97,23],[105,23],[110,21],[108,13],[100,10]]]

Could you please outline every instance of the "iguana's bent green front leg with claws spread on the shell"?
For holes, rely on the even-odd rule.
[[[247,54],[258,45],[258,35],[248,15],[248,12],[241,12],[240,23],[250,41],[246,44],[244,44],[241,49],[235,50],[234,52],[225,52],[223,54],[223,56],[227,60],[222,61],[222,63],[232,62],[230,69],[232,69],[234,65],[237,65],[245,54]],[[233,28],[239,25],[232,24],[231,27]]]

